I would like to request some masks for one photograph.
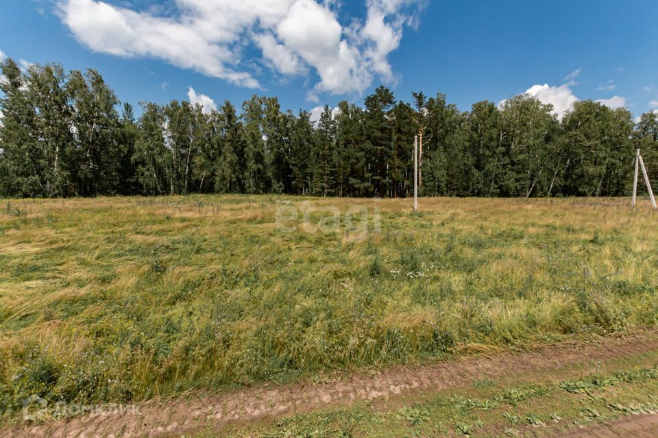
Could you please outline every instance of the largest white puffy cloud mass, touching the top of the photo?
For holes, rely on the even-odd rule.
[[[93,51],[121,57],[156,57],[258,88],[245,51],[286,76],[315,70],[312,99],[321,92],[363,92],[376,77],[394,81],[388,61],[405,26],[415,25],[423,0],[363,0],[365,19],[344,17],[335,1],[175,0],[173,10],[138,11],[97,0],[59,0],[62,22]],[[124,3],[130,4],[130,3]],[[246,65],[245,65],[246,64]]]

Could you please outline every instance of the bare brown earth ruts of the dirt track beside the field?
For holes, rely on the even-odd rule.
[[[134,415],[76,417],[68,422],[22,426],[0,430],[0,436],[16,437],[157,437],[216,428],[230,422],[261,417],[348,406],[373,400],[388,404],[398,396],[422,398],[443,389],[459,388],[482,378],[514,381],[574,368],[581,374],[597,370],[596,361],[622,359],[658,350],[658,333],[607,339],[599,344],[570,344],[533,352],[506,353],[422,367],[399,367],[370,376],[347,376],[324,385],[297,384],[282,387],[260,385],[206,398],[152,400]],[[614,435],[618,430],[619,433]],[[585,433],[586,435],[583,435]],[[598,434],[598,435],[597,435]],[[610,435],[613,434],[613,435]],[[570,437],[658,437],[658,415],[627,417],[609,427],[578,430]]]

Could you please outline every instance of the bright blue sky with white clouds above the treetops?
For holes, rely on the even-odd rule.
[[[461,110],[528,90],[560,114],[601,99],[637,116],[658,109],[657,21],[653,0],[3,0],[0,51],[96,68],[134,104],[311,110],[384,83]]]

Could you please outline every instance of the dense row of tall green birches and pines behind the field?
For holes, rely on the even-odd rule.
[[[409,196],[419,138],[424,196],[624,196],[635,149],[658,177],[658,114],[579,101],[559,120],[521,95],[461,112],[380,86],[363,106],[283,111],[276,97],[204,112],[123,105],[95,70],[0,64],[0,196],[282,193]]]

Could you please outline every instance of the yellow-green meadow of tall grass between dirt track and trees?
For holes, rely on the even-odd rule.
[[[658,216],[626,199],[422,199],[415,216],[409,200],[0,202],[2,407],[321,380],[658,322]],[[356,207],[367,233],[346,223]]]

